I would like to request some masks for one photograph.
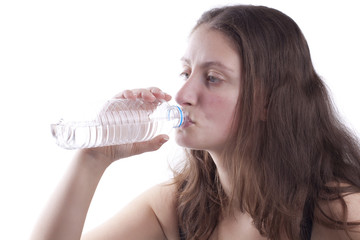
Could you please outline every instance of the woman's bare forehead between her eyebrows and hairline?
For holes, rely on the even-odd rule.
[[[206,24],[191,33],[184,59],[191,63],[214,61],[231,68],[240,66],[240,56],[233,41]]]

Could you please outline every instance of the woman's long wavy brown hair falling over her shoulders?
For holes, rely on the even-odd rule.
[[[304,239],[306,221],[346,231],[359,224],[346,221],[344,201],[345,193],[359,192],[359,144],[336,115],[297,24],[278,10],[243,5],[212,9],[194,29],[201,24],[232,39],[242,77],[223,154],[232,195],[224,194],[206,151],[188,150],[175,174],[186,239],[208,239],[233,201],[269,239]],[[320,201],[334,199],[343,219],[312,215]]]

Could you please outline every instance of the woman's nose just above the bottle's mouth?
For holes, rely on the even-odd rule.
[[[190,76],[176,93],[175,101],[181,106],[195,105],[199,98],[199,88],[194,77]]]

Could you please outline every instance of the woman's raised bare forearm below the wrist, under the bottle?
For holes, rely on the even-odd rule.
[[[80,239],[86,214],[107,164],[80,152],[56,189],[33,240]]]

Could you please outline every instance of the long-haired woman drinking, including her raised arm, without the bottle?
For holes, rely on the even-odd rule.
[[[188,159],[82,235],[96,186],[117,159],[168,139],[79,151],[33,239],[360,239],[360,153],[338,121],[300,29],[281,12],[206,12],[182,58],[176,133]],[[170,100],[158,88],[119,98]]]

